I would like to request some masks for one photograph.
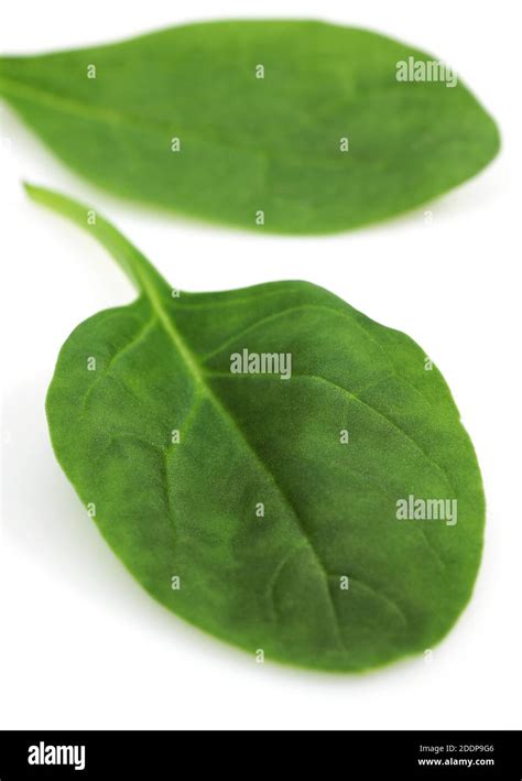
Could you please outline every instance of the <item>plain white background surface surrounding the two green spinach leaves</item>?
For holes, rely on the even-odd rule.
[[[497,118],[503,150],[475,181],[394,221],[331,238],[261,237],[157,216],[99,192],[2,106],[0,727],[520,728],[515,3],[17,0],[4,4],[1,48],[67,48],[217,15],[322,18],[433,52]],[[410,334],[433,357],[477,448],[488,523],[474,599],[431,662],[361,676],[259,665],[168,614],[127,574],[54,459],[43,404],[73,327],[132,292],[104,250],[26,199],[22,178],[102,210],[178,288],[307,279]]]

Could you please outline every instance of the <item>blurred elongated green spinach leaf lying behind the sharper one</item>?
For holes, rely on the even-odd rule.
[[[308,21],[0,61],[0,93],[96,184],[293,234],[391,217],[480,171],[498,131],[456,78],[405,44]]]

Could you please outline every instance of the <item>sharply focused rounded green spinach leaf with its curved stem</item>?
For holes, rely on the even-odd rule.
[[[485,508],[424,351],[305,282],[177,293],[87,207],[28,189],[139,291],[69,336],[47,416],[65,474],[144,588],[252,654],[309,668],[436,643],[470,597]]]

